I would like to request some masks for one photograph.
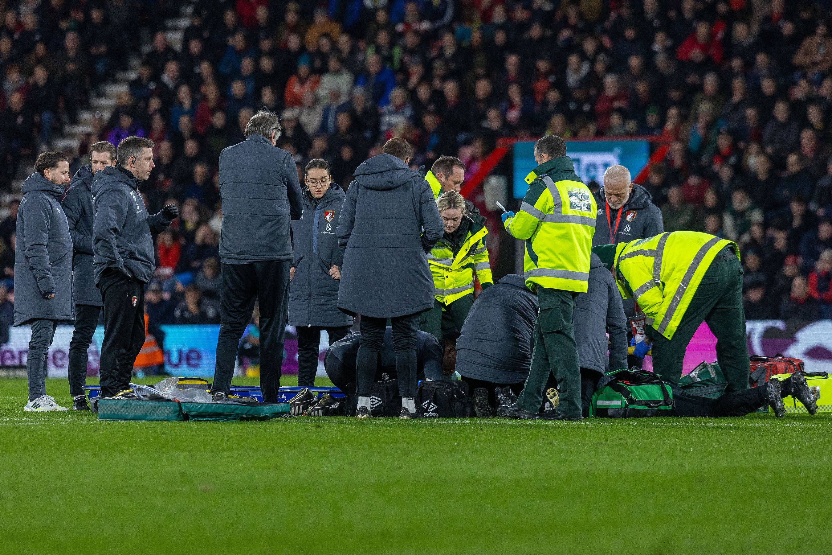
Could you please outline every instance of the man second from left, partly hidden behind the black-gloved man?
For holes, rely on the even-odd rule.
[[[72,409],[89,410],[84,396],[87,381],[87,349],[101,314],[102,292],[92,277],[92,224],[95,210],[92,206],[92,176],[107,166],[116,165],[116,147],[109,141],[100,141],[90,147],[90,164],[81,166],[72,177],[67,196],[63,198],[63,211],[72,236],[72,283],[75,287],[75,329],[69,342],[69,394]]]

